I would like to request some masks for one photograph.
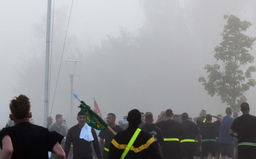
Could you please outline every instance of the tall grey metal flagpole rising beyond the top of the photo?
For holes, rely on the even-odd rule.
[[[44,127],[45,128],[47,127],[47,117],[48,117],[50,26],[51,26],[51,0],[48,0],[47,26],[46,26],[46,51],[45,51],[45,81],[44,81]]]

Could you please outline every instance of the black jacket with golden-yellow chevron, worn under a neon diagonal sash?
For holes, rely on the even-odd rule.
[[[135,131],[136,128],[128,127],[126,130],[116,134],[109,147],[109,159],[120,159]],[[140,131],[133,146],[125,156],[125,159],[128,158],[162,159],[155,139],[144,131]]]

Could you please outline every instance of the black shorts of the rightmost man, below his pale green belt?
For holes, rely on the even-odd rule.
[[[239,159],[256,159],[256,146],[238,145]]]

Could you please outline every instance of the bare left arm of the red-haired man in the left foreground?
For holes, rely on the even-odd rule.
[[[2,139],[3,151],[0,159],[10,159],[13,153],[12,139],[9,135],[5,135]]]

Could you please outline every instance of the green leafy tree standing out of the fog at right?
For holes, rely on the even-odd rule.
[[[233,111],[239,111],[240,104],[247,100],[244,92],[256,84],[251,78],[256,67],[248,66],[254,62],[249,49],[252,50],[256,38],[244,34],[251,26],[250,22],[241,21],[234,15],[224,15],[224,19],[227,19],[227,24],[221,33],[223,41],[214,49],[214,58],[220,64],[206,65],[208,81],[202,76],[198,81],[203,83],[209,95],[219,95],[222,103],[232,107]]]

